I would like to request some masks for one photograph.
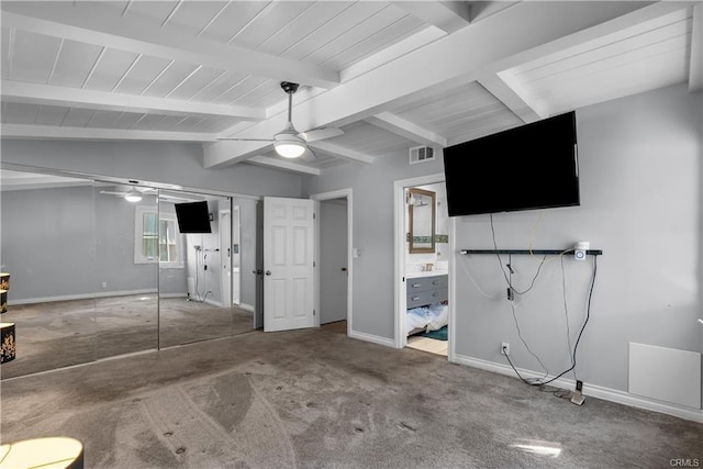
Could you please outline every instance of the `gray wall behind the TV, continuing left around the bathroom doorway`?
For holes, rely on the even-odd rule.
[[[494,215],[499,247],[527,248],[534,232],[536,248],[589,241],[604,250],[577,356],[578,377],[589,383],[627,390],[628,342],[702,351],[702,104],[700,92],[676,86],[577,110],[581,206],[546,210],[542,220],[538,211]],[[354,265],[356,331],[393,336],[392,182],[439,171],[439,161],[408,166],[403,154],[305,179],[306,193],[354,188],[354,245],[364,249]],[[457,248],[492,248],[488,215],[458,217],[456,227]],[[509,342],[516,366],[542,371],[517,336],[498,259],[454,259],[457,354],[505,365],[499,346]],[[512,261],[516,287],[527,288],[538,263]],[[563,258],[563,266],[573,344],[592,264]],[[561,261],[553,259],[515,310],[523,337],[551,373],[570,362],[563,303]]]

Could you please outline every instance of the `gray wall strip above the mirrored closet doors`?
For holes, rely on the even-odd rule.
[[[252,196],[301,193],[301,177],[290,172],[254,165],[203,169],[200,144],[3,139],[2,160]]]

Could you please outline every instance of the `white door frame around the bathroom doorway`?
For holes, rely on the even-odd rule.
[[[395,253],[395,269],[393,273],[394,278],[394,346],[395,348],[404,348],[408,345],[408,336],[405,334],[405,311],[406,311],[406,287],[405,287],[405,189],[414,186],[426,186],[432,183],[439,183],[445,181],[444,172],[436,172],[433,175],[419,176],[410,179],[400,179],[393,182],[393,239],[394,239],[394,253]],[[449,217],[449,335],[448,335],[448,360],[455,361],[455,333],[456,327],[456,301],[455,301],[455,246],[456,246],[456,221],[454,217]]]

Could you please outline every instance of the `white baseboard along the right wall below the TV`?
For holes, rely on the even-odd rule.
[[[472,358],[457,354],[455,356],[454,362],[517,378],[515,376],[515,371],[509,365],[496,364],[495,361],[488,361],[480,358]],[[517,368],[517,371],[520,371],[523,378],[540,378],[544,376],[544,373],[538,373],[522,368]],[[553,377],[548,378],[551,379]],[[550,382],[549,386],[565,389],[574,389],[576,382],[571,379],[559,378]],[[632,407],[659,412],[688,421],[703,423],[703,410],[701,409],[691,409],[682,405],[671,404],[668,402],[656,401],[654,399],[641,398],[639,395],[631,394],[625,391],[618,391],[616,389],[605,388],[598,384],[590,384],[588,382],[583,383],[582,393],[583,395],[603,399],[604,401],[611,401],[618,404],[629,405]]]

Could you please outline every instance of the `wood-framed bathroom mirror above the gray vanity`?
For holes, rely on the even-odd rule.
[[[435,193],[411,188],[408,190],[410,254],[435,252]]]

